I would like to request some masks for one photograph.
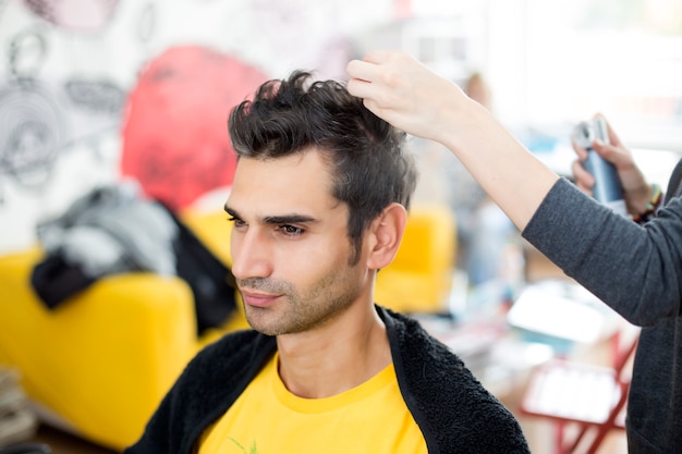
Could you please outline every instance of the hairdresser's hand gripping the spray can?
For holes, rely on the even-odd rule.
[[[623,187],[623,197],[625,198],[628,211],[631,214],[641,213],[651,199],[654,189],[646,182],[644,174],[636,165],[632,152],[621,143],[608,122],[607,126],[609,144],[595,140],[593,149],[616,167]],[[583,162],[587,159],[587,150],[580,147],[575,142],[573,142],[573,149],[577,154],[577,160],[573,162],[572,167],[575,183],[582,191],[592,195],[595,179],[583,167]]]

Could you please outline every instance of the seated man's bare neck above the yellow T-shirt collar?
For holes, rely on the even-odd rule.
[[[374,307],[351,308],[317,330],[280,335],[277,344],[282,382],[301,397],[342,393],[391,364],[386,327]]]

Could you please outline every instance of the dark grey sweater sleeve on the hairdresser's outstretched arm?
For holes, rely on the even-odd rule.
[[[645,327],[680,314],[680,197],[641,226],[561,179],[522,234],[630,322]]]

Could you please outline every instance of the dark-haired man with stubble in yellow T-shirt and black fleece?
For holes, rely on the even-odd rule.
[[[232,272],[254,330],[199,353],[126,453],[527,453],[454,354],[373,303],[415,186],[404,134],[303,72],[229,126]]]

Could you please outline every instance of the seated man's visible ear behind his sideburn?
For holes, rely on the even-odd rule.
[[[379,270],[393,261],[406,224],[407,210],[395,203],[374,220],[368,232],[367,268]]]

